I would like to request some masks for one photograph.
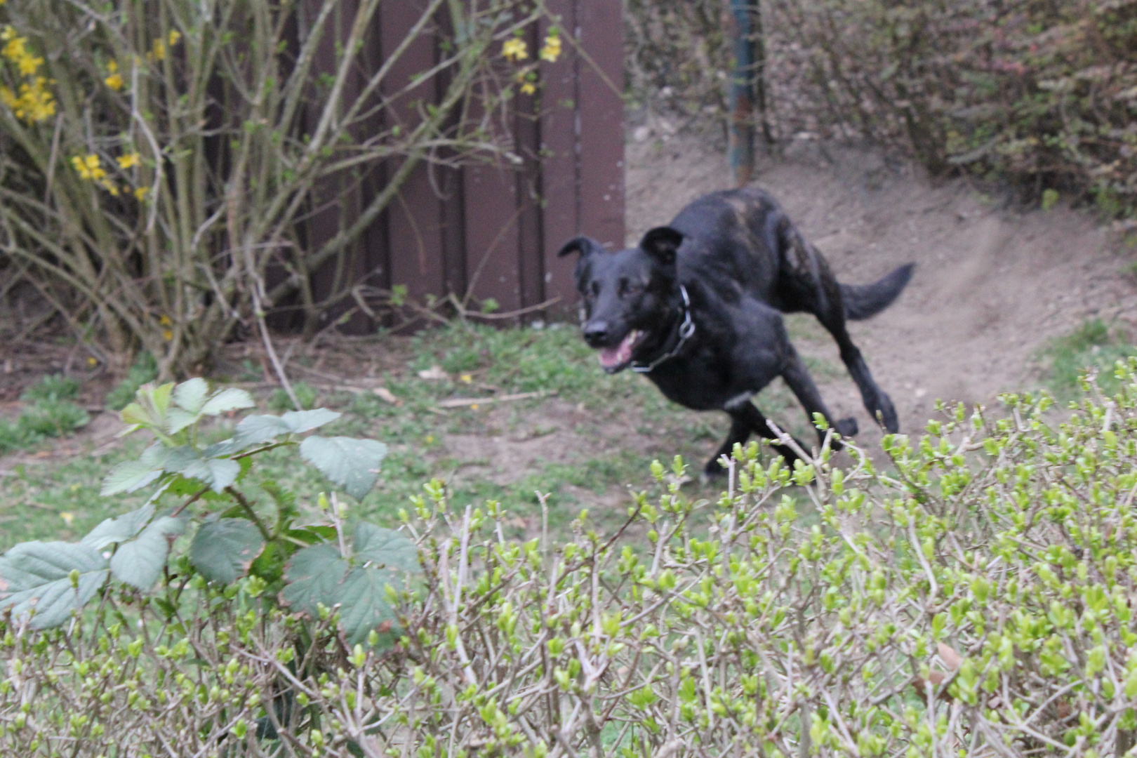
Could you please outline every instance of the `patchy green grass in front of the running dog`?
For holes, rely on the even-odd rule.
[[[343,414],[324,428],[325,434],[367,436],[389,445],[375,489],[352,506],[359,516],[377,523],[393,522],[408,498],[422,492],[424,482],[440,477],[447,481],[453,507],[489,499],[501,502],[520,517],[514,522],[515,533],[532,532],[541,523],[538,491],[550,495],[553,528],[567,528],[581,508],[589,508],[590,519],[607,531],[626,516],[629,489],[656,493],[649,473],[653,459],[670,464],[680,453],[692,475],[697,474],[729,426],[722,414],[698,414],[667,401],[642,376],[631,372],[606,375],[576,330],[567,326],[538,331],[455,324],[423,332],[406,348],[401,351],[408,356],[405,365],[379,377],[399,405],[372,393],[332,392],[318,398],[318,405]],[[442,367],[450,378],[418,376],[432,366]],[[447,398],[538,391],[555,393],[555,398],[478,409],[438,407]],[[259,401],[263,409],[272,403],[267,393]],[[767,417],[803,440],[813,439],[800,407],[780,382],[763,391],[757,402]],[[559,416],[549,415],[550,403],[557,403]],[[572,422],[565,420],[566,405],[572,407]],[[232,424],[232,419],[223,422],[210,436],[224,439]],[[484,464],[484,453],[481,459],[458,459],[446,444],[455,434],[541,439],[557,430],[573,433],[579,441],[578,449],[568,451],[568,460],[550,455],[559,459],[538,458],[516,470],[504,461],[512,470],[508,484],[488,481],[476,475],[478,469],[465,474],[464,469]],[[146,444],[140,438],[126,438],[121,449],[99,458],[88,455],[27,464],[0,477],[0,549],[23,540],[76,539],[102,518],[139,507],[147,490],[126,498],[100,498],[98,492],[106,472],[136,457]],[[292,448],[262,456],[243,483],[254,500],[267,503],[257,486],[264,480],[291,489],[300,503],[312,503],[318,492],[331,489]],[[688,486],[689,497],[713,498],[719,492],[714,484]]]

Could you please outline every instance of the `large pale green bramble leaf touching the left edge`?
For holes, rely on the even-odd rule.
[[[22,542],[0,557],[0,608],[11,607],[17,618],[34,610],[33,628],[59,626],[94,597],[107,574],[107,560],[82,542]]]

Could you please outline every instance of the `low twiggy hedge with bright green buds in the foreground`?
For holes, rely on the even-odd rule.
[[[787,469],[752,445],[717,500],[692,502],[681,461],[655,464],[662,497],[615,534],[581,514],[559,544],[507,539],[497,505],[432,482],[402,528],[425,581],[387,590],[393,616],[364,636],[354,602],[272,598],[280,577],[251,556],[236,578],[206,581],[191,555],[156,590],[111,580],[51,630],[9,611],[0,749],[1134,755],[1135,373],[1119,365],[1115,397],[1087,383],[1065,422],[1045,395],[952,409],[919,443],[886,439],[886,469],[856,448],[837,467],[828,447]],[[342,511],[319,513],[304,528],[346,551]],[[347,583],[300,568],[285,581],[305,592]]]

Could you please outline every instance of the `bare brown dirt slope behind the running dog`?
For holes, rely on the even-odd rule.
[[[689,200],[729,186],[729,176],[724,157],[699,141],[632,142],[629,243]],[[779,198],[843,282],[871,282],[916,263],[896,305],[850,325],[904,432],[923,427],[937,398],[989,403],[998,392],[1037,384],[1032,357],[1087,318],[1135,333],[1137,281],[1122,273],[1132,255],[1120,255],[1086,213],[1061,203],[999,210],[964,181],[933,186],[878,155],[813,143],[761,166],[757,183]],[[803,335],[797,326],[804,353],[839,364],[820,327]],[[862,442],[874,443],[879,434],[852,381],[819,383],[835,413],[857,416]]]

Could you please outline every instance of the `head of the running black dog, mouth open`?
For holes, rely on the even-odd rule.
[[[589,347],[600,351],[600,366],[615,374],[650,349],[670,325],[680,297],[675,252],[683,235],[670,226],[650,230],[639,245],[608,252],[586,236],[571,240],[558,256],[579,253],[576,289],[581,328]]]

